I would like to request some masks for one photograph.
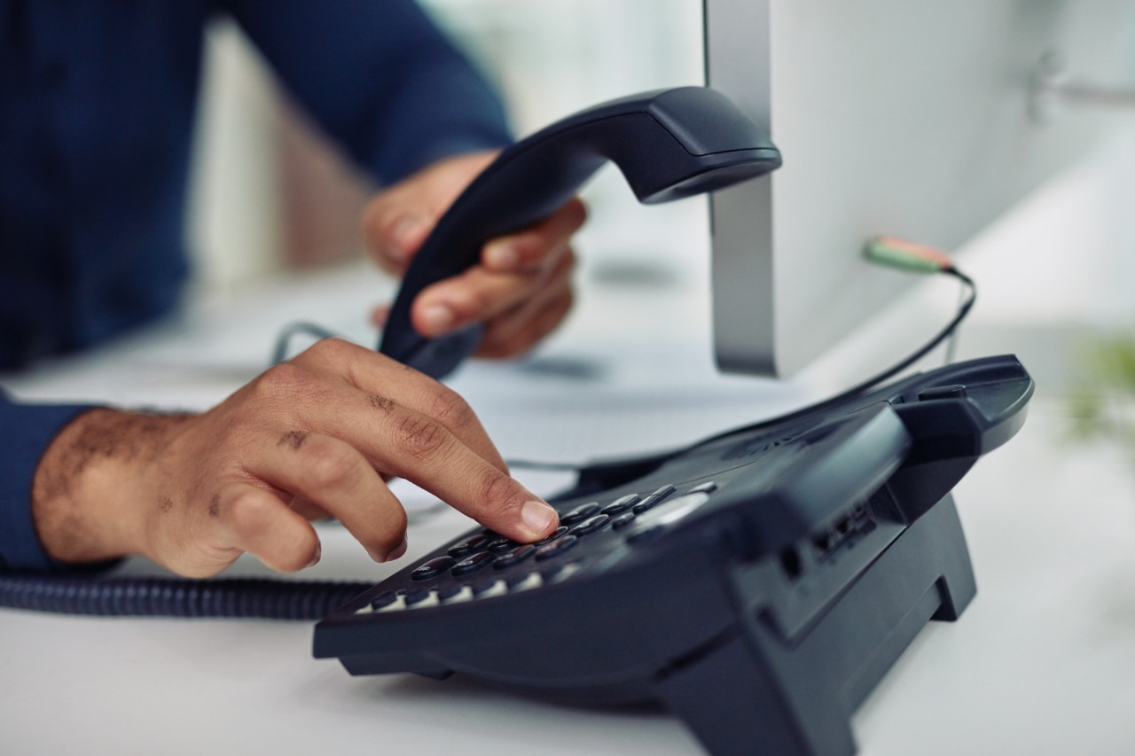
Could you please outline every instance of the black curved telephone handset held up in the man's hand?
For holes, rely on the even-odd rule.
[[[410,320],[414,299],[476,264],[490,238],[553,213],[607,160],[648,204],[724,188],[781,165],[767,135],[706,87],[646,92],[564,118],[504,150],[442,216],[406,270],[380,351],[435,378],[448,375],[477,348],[482,327],[426,338]]]

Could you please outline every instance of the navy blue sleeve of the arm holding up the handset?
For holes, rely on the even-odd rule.
[[[412,0],[225,6],[300,103],[382,183],[511,141],[493,90]]]

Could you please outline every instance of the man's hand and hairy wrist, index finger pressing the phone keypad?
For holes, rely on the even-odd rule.
[[[339,339],[200,415],[78,415],[40,462],[33,513],[48,553],[68,562],[143,554],[208,577],[249,552],[294,571],[319,560],[309,520],[327,515],[384,562],[406,548],[390,476],[518,540],[557,523],[460,396]]]

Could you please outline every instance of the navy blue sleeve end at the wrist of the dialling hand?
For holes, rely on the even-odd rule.
[[[16,404],[0,392],[0,569],[47,572],[60,565],[43,552],[32,520],[32,479],[44,450],[76,414],[75,404]]]

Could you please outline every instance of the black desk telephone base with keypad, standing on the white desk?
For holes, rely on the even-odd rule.
[[[713,754],[852,754],[849,716],[975,594],[950,495],[1025,420],[1012,356],[591,464],[536,545],[474,529],[316,628],[352,674],[661,702]]]

